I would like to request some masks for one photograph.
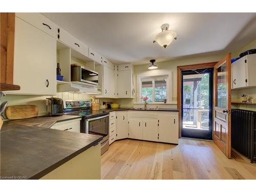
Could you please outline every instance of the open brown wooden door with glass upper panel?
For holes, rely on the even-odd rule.
[[[231,53],[214,69],[214,133],[215,144],[231,157]]]

